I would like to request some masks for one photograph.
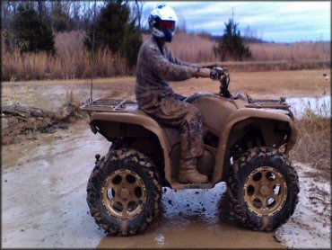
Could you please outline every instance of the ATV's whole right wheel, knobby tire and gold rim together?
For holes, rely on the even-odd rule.
[[[228,184],[236,218],[259,231],[284,224],[293,215],[300,191],[291,162],[273,147],[255,147],[240,156]]]

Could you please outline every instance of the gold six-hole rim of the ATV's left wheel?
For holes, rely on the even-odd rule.
[[[110,174],[101,189],[102,204],[110,216],[132,219],[144,208],[146,188],[135,172],[121,169]]]

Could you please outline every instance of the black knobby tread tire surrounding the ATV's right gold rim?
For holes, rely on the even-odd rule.
[[[263,217],[258,217],[257,214],[251,212],[248,205],[243,200],[241,194],[243,190],[243,175],[248,172],[244,168],[253,171],[255,165],[259,164],[270,158],[269,161],[275,163],[278,167],[284,167],[283,175],[287,183],[287,200],[284,203],[282,210],[278,211],[275,215],[268,217],[267,223],[263,222]],[[279,169],[278,169],[279,170]],[[283,152],[278,151],[273,147],[254,147],[249,149],[246,153],[237,159],[231,169],[228,179],[228,197],[231,210],[233,211],[235,218],[246,227],[258,231],[273,231],[284,224],[292,215],[295,210],[296,204],[299,201],[298,193],[300,192],[299,177],[296,173],[293,165],[287,156]]]

